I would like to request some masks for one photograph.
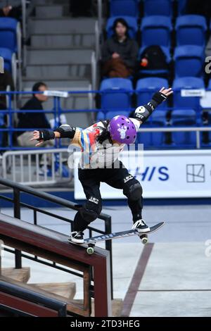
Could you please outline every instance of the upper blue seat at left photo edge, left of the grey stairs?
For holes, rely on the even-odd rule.
[[[0,46],[17,52],[18,20],[14,18],[0,18]]]

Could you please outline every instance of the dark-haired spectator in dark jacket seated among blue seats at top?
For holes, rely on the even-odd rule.
[[[113,24],[113,37],[103,45],[103,75],[107,77],[129,77],[134,73],[138,56],[138,44],[129,38],[128,25],[123,18]]]

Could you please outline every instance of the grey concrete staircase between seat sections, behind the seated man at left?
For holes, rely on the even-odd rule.
[[[95,48],[96,18],[72,18],[67,0],[34,0],[35,15],[29,18],[31,44],[27,47],[27,66],[23,89],[34,82],[46,82],[49,89],[87,90],[91,84],[91,54]],[[45,108],[52,107],[52,99]],[[61,100],[64,109],[87,109],[87,94]],[[72,123],[77,117],[77,123]],[[87,125],[84,114],[70,115],[72,125]]]

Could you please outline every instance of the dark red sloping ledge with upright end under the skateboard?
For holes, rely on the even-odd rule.
[[[92,256],[84,247],[68,244],[68,236],[0,213],[0,235],[6,246],[23,250],[84,273],[84,304],[67,301],[67,310],[77,316],[90,313],[90,270],[93,269],[95,316],[110,316],[110,254],[96,247]]]

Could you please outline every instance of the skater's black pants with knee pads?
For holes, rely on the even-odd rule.
[[[123,189],[127,196],[127,203],[132,211],[134,222],[141,218],[142,187],[138,180],[129,174],[120,162],[120,168],[97,168],[78,171],[87,201],[75,215],[73,230],[84,231],[89,223],[98,218],[102,210],[100,192],[101,182],[106,182],[111,187]]]

